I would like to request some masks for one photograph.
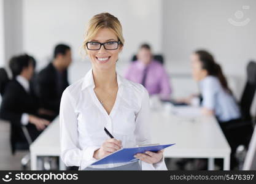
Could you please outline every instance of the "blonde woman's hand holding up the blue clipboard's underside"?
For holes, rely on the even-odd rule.
[[[163,150],[160,150],[157,153],[145,151],[145,153],[137,153],[134,157],[144,161],[145,163],[155,164],[160,162],[163,158]]]

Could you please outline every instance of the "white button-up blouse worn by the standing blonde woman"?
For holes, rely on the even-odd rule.
[[[68,86],[60,105],[61,159],[66,166],[80,170],[95,162],[93,153],[109,139],[104,127],[122,141],[123,147],[150,144],[149,94],[144,86],[117,74],[118,92],[108,115],[94,92],[92,70],[83,79]],[[116,167],[127,163],[90,167]],[[166,170],[164,159],[159,163],[141,162],[142,170]]]

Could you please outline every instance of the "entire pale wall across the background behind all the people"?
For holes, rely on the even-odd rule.
[[[19,50],[31,53],[37,59],[37,69],[41,69],[52,58],[55,44],[69,44],[74,58],[69,75],[71,82],[80,79],[90,67],[88,59],[82,61],[79,48],[86,23],[99,12],[114,14],[123,25],[126,42],[118,61],[121,72],[142,42],[152,44],[156,53],[164,53],[166,69],[172,75],[189,75],[190,53],[206,48],[222,65],[239,99],[247,61],[256,59],[254,0],[20,0],[18,4],[15,0],[4,1],[6,7],[14,6],[7,13],[10,21],[5,18],[9,22],[6,29],[12,28],[7,39],[9,36],[13,45],[6,47],[7,55]],[[242,10],[244,5],[250,9]],[[234,15],[236,10],[244,12],[241,20],[250,18],[248,25],[238,27],[228,22],[228,18],[240,21]],[[184,91],[190,93],[186,85],[173,83],[179,87],[174,88],[175,96]]]

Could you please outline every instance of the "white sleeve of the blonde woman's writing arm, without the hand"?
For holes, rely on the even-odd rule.
[[[84,169],[96,161],[93,153],[99,147],[80,148],[78,138],[77,116],[74,101],[69,94],[69,88],[63,92],[60,104],[60,145],[61,159],[66,166],[80,166]]]

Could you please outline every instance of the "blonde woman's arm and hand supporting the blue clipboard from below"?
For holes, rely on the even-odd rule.
[[[150,144],[150,112],[149,112],[149,93],[145,88],[143,88],[144,94],[142,96],[141,109],[136,115],[136,128],[135,136],[137,145]],[[157,123],[157,122],[156,122]],[[148,151],[148,153],[137,154],[136,158],[142,161],[142,170],[167,170],[165,161],[163,158],[163,151],[158,151],[153,153]]]

